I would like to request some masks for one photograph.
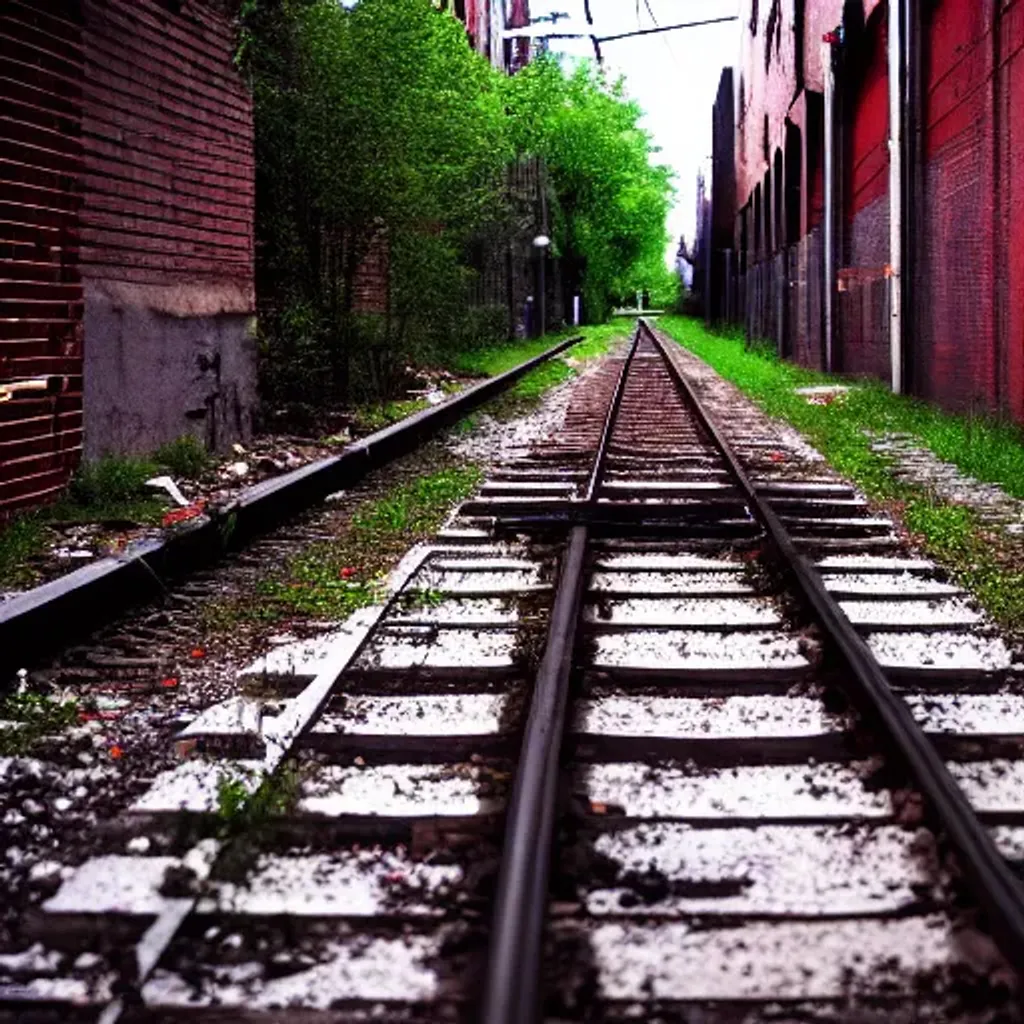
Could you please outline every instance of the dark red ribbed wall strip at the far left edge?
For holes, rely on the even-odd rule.
[[[0,382],[63,378],[0,402],[0,518],[58,490],[82,449],[78,6],[0,7]]]

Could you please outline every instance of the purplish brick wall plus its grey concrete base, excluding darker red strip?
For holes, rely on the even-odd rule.
[[[207,0],[82,0],[85,453],[223,449],[256,402],[252,103]]]

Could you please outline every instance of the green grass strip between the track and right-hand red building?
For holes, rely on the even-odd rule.
[[[741,334],[713,334],[698,321],[665,316],[668,334],[736,384],[770,416],[800,430],[868,497],[886,503],[947,565],[1001,626],[1024,632],[1024,548],[985,526],[971,508],[897,480],[892,463],[871,451],[872,438],[902,433],[964,473],[1024,497],[1024,431],[1013,424],[954,416],[914,398],[892,394],[876,381],[843,379],[749,349]],[[854,383],[842,400],[810,404],[798,387]]]

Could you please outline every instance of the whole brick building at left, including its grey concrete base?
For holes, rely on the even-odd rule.
[[[215,0],[0,7],[0,516],[83,450],[245,437],[251,103]]]

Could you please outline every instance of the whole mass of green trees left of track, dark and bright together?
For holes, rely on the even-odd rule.
[[[662,287],[669,172],[621,84],[541,60],[509,79],[432,0],[245,0],[256,116],[257,291],[270,401],[380,401],[406,365],[507,334],[467,309],[481,238],[515,221],[505,169],[543,157],[566,292],[598,322]],[[370,258],[388,307],[360,313]]]

